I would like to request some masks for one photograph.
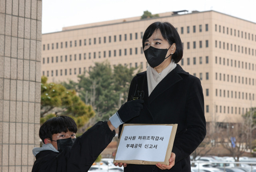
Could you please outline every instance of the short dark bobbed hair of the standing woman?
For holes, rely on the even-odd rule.
[[[178,63],[183,56],[182,42],[177,30],[169,22],[154,22],[148,26],[142,38],[142,47],[145,47],[145,41],[152,36],[155,30],[159,29],[163,38],[168,41],[170,45],[176,44],[176,51],[172,55],[175,63]]]

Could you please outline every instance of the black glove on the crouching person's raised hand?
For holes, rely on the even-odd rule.
[[[119,118],[123,123],[129,121],[130,119],[140,115],[140,110],[143,108],[142,103],[144,100],[138,99],[133,101],[128,101],[124,103],[120,109],[117,111]]]

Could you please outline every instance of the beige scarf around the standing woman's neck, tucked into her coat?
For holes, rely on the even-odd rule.
[[[148,79],[148,96],[152,93],[152,91],[155,89],[156,85],[166,77],[170,71],[172,71],[177,66],[176,63],[174,63],[174,60],[171,61],[171,63],[162,70],[161,73],[157,73],[157,71],[148,66],[147,68],[147,79]]]

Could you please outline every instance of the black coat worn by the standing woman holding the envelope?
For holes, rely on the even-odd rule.
[[[176,154],[172,172],[190,172],[190,154],[206,135],[204,96],[200,79],[184,71],[180,65],[170,72],[148,97],[146,71],[138,73],[131,82],[128,101],[143,91],[144,105],[138,117],[127,123],[178,124],[172,152]],[[119,136],[122,125],[119,127]],[[159,171],[155,165],[128,164],[125,172]]]

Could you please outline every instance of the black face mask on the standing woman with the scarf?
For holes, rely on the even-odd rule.
[[[158,49],[158,48],[150,46],[148,49],[146,49],[144,51],[144,54],[148,61],[148,64],[154,68],[154,67],[160,65],[161,63],[163,63],[163,61],[165,59],[167,59],[168,57],[170,57],[170,55],[171,55],[170,54],[170,55],[168,55],[168,57],[165,57],[167,54],[167,51],[170,49],[170,47],[168,49]]]

